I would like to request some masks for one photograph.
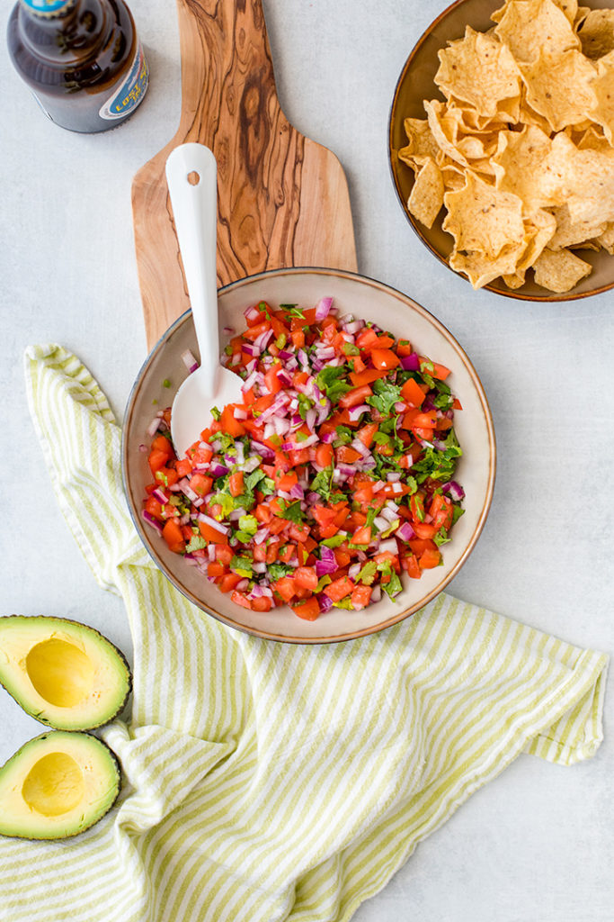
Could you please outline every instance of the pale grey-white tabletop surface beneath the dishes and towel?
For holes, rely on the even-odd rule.
[[[0,54],[0,613],[86,621],[127,652],[122,604],[98,588],[52,496],[29,420],[22,354],[29,343],[50,340],[73,349],[119,417],[145,358],[130,186],[133,173],[175,132],[180,67],[172,0],[131,6],[151,87],[133,119],[105,135],[72,135],[48,122],[6,52]],[[474,292],[423,250],[388,175],[396,79],[444,6],[442,0],[264,0],[279,95],[291,122],[342,160],[360,270],[434,312],[469,352],[489,395],[499,451],[492,512],[450,590],[609,653],[614,294],[531,305]],[[592,760],[562,768],[521,756],[420,845],[355,918],[614,917],[613,717],[609,688],[606,739]],[[0,727],[2,762],[41,732],[7,695],[0,695]]]

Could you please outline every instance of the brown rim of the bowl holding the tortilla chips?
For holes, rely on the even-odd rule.
[[[432,31],[436,28],[436,26],[439,25],[439,23],[442,22],[444,19],[446,19],[448,16],[450,16],[450,14],[452,14],[458,7],[465,6],[465,4],[469,2],[470,0],[454,0],[454,3],[451,3],[449,6],[446,6],[446,9],[442,10],[442,12],[439,13],[439,15],[435,17],[433,21],[429,23],[429,25],[423,31],[418,41],[416,41],[413,48],[411,49],[411,52],[409,53],[409,56],[407,57],[405,64],[403,65],[401,69],[400,76],[397,79],[397,83],[395,85],[394,93],[392,96],[392,102],[390,104],[390,111],[388,114],[388,169],[390,171],[390,177],[392,179],[392,184],[394,185],[395,192],[400,202],[400,207],[402,208],[406,219],[409,221],[411,230],[416,234],[418,239],[423,243],[423,245],[427,248],[427,250],[430,250],[430,252],[434,256],[436,256],[439,262],[442,263],[444,266],[446,266],[446,269],[448,269],[448,271],[452,272],[457,278],[462,278],[463,281],[467,282],[470,285],[471,283],[469,282],[469,278],[466,278],[464,275],[462,275],[462,273],[457,272],[456,269],[453,269],[452,266],[450,266],[450,264],[447,262],[446,257],[443,256],[441,253],[439,253],[439,251],[431,244],[431,242],[429,242],[426,239],[426,237],[423,234],[422,229],[420,228],[419,221],[413,217],[413,215],[411,214],[411,211],[407,207],[407,202],[405,201],[401,193],[401,190],[400,190],[400,183],[398,180],[397,171],[395,169],[395,159],[397,161],[399,159],[395,158],[396,148],[394,148],[393,143],[392,143],[392,134],[394,130],[395,115],[397,114],[396,108],[397,108],[398,97],[400,93],[400,87],[403,84],[403,81],[405,80],[405,78],[407,77],[408,71],[410,70],[411,65],[413,63],[413,58],[421,50],[424,41],[426,41],[426,39],[431,35]],[[588,4],[590,3],[590,0],[586,0],[586,2]],[[500,6],[500,3],[501,3],[501,0],[492,0],[493,8],[496,8],[497,4]],[[439,92],[439,89],[436,87],[436,84],[434,84],[433,86],[434,86],[434,90],[436,92]],[[408,167],[408,169],[410,168]],[[573,293],[573,290],[572,290],[568,292],[563,292],[562,294],[557,294],[556,291],[549,292],[547,289],[544,289],[544,292],[546,292],[544,295],[528,294],[527,292],[522,292],[519,289],[516,289],[516,290],[509,289],[509,290],[504,291],[500,288],[495,288],[495,286],[492,285],[491,282],[489,282],[488,285],[482,285],[480,290],[492,291],[493,294],[499,295],[502,298],[514,298],[516,299],[516,301],[536,301],[538,303],[541,303],[541,302],[552,302],[552,301],[554,302],[556,301],[579,301],[582,298],[592,298],[594,295],[603,294],[605,291],[612,290],[613,288],[614,288],[614,279],[612,279],[612,281],[609,282],[608,285],[601,285],[599,288],[592,289],[590,291],[577,291],[575,293]]]

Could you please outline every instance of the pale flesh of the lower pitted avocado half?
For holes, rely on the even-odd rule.
[[[0,834],[65,839],[98,822],[120,792],[109,747],[88,733],[52,730],[0,768]]]

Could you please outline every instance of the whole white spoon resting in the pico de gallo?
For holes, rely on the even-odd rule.
[[[241,379],[220,364],[215,273],[217,164],[202,144],[182,144],[167,160],[167,182],[190,295],[200,367],[173,400],[170,433],[182,457],[211,421],[214,407],[242,403]]]

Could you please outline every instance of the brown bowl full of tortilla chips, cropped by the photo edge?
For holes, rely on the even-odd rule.
[[[474,289],[613,288],[614,9],[458,0],[403,67],[389,155],[411,227]]]

